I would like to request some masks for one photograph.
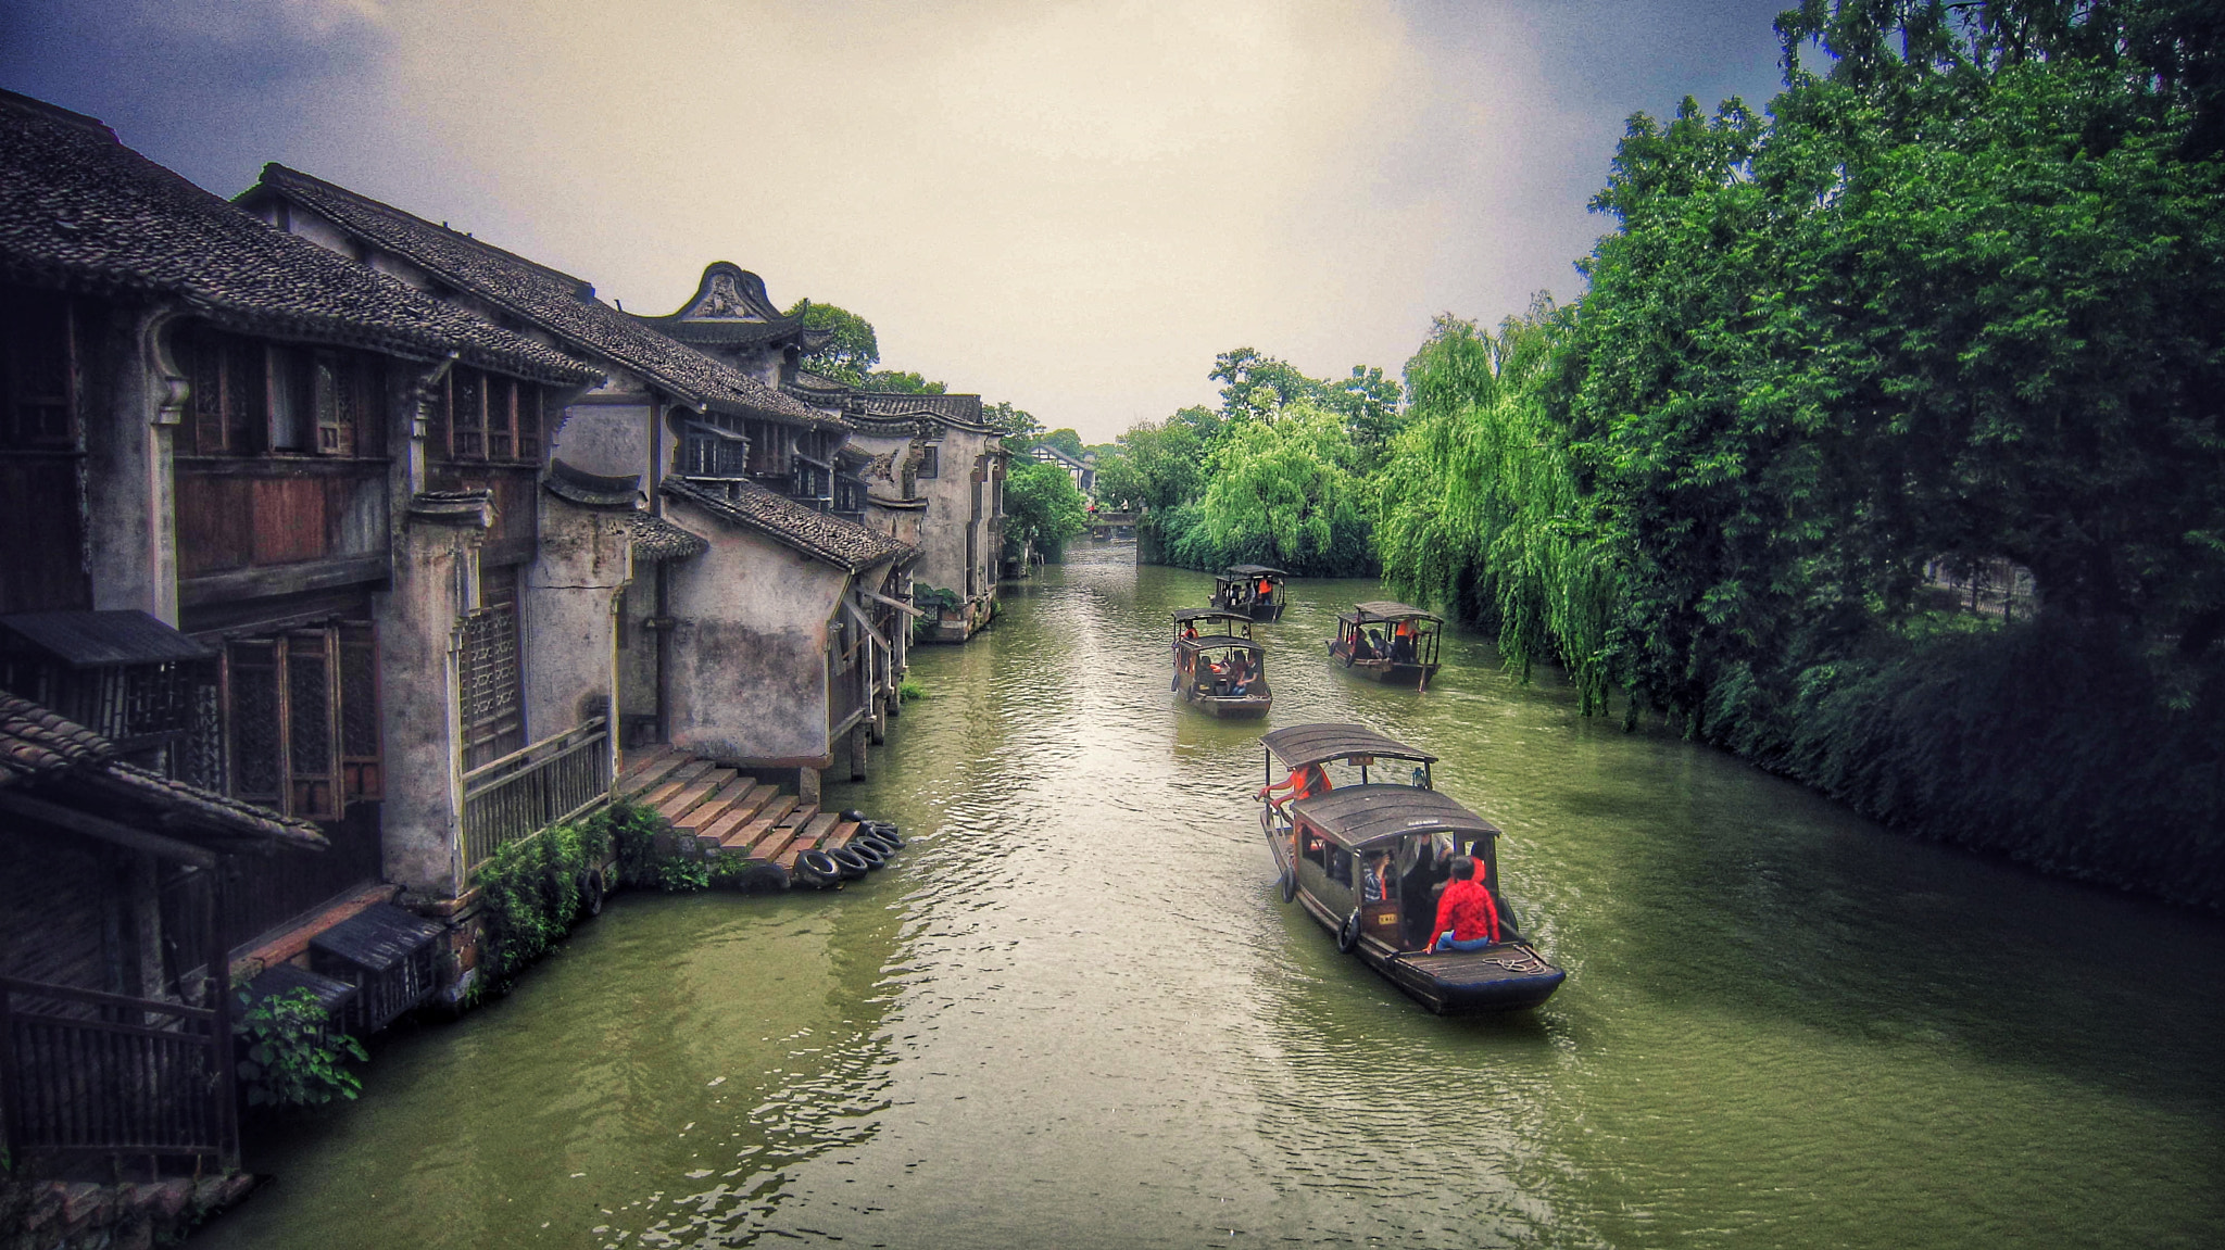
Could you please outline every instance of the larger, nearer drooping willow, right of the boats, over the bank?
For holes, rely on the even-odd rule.
[[[1606,710],[1620,587],[1553,418],[1564,320],[1546,300],[1500,334],[1435,320],[1406,363],[1375,545],[1400,594],[1497,629],[1524,678],[1540,658],[1562,663],[1591,714]]]

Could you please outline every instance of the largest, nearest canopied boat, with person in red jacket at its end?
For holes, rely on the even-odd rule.
[[[1433,787],[1437,756],[1342,723],[1293,725],[1259,743],[1270,783],[1259,787],[1259,830],[1282,870],[1282,901],[1333,932],[1337,950],[1437,1014],[1535,1008],[1566,981],[1515,923],[1500,827]],[[1331,765],[1357,772],[1357,783],[1335,783]],[[1462,856],[1497,907],[1497,941],[1437,952],[1437,901]]]

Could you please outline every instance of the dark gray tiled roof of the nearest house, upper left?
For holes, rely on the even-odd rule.
[[[0,278],[176,298],[229,329],[541,380],[599,374],[532,338],[276,231],[80,113],[0,91]]]

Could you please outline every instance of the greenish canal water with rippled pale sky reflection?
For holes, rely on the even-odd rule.
[[[1084,549],[914,652],[837,894],[621,894],[256,1141],[196,1248],[2218,1246],[2225,927],[1887,834],[1446,641],[1264,627],[1270,725],[1437,752],[1569,970],[1446,1021],[1275,892],[1259,725],[1168,694],[1208,578]]]

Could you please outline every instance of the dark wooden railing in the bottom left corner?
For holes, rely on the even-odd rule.
[[[0,976],[0,1121],[38,1152],[238,1159],[218,1012]]]

